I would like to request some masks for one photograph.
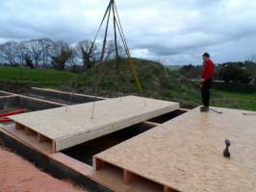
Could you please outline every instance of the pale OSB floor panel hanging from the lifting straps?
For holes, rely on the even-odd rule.
[[[55,140],[60,151],[179,108],[177,103],[127,96],[95,102],[91,119],[92,105],[53,108],[10,118]]]

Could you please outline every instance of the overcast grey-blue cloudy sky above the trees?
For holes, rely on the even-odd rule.
[[[0,0],[0,42],[95,35],[108,0]],[[134,57],[200,64],[256,54],[256,0],[115,0]]]

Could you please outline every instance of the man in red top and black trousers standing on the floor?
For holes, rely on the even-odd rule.
[[[208,53],[205,53],[203,55],[203,61],[204,61],[204,65],[203,65],[202,77],[200,80],[203,107],[201,107],[200,110],[202,112],[205,112],[205,111],[209,111],[210,89],[213,83],[215,64],[210,59],[210,55]]]

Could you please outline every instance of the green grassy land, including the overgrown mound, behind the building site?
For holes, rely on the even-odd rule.
[[[200,105],[198,84],[189,82],[178,72],[171,71],[158,62],[134,60],[143,87],[143,96],[180,102],[183,108]],[[126,60],[120,61],[120,85],[118,85],[115,61],[104,62],[97,70],[87,70],[81,74],[49,69],[0,67],[0,89],[17,91],[22,87],[40,86],[95,94],[93,87],[98,87],[97,95],[113,97],[119,95],[119,87],[121,87],[124,95],[139,95],[138,86],[130,71],[129,63]],[[93,85],[95,82],[97,85]],[[225,108],[256,110],[256,101],[251,99],[254,96],[243,95],[241,98],[237,96],[239,94],[229,94],[213,90],[212,104]]]

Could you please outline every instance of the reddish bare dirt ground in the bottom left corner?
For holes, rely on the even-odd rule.
[[[39,171],[0,145],[0,192],[86,192]]]

